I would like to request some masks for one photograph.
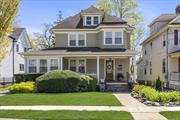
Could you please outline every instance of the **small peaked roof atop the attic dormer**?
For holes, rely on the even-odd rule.
[[[85,13],[103,14],[103,10],[98,9],[92,5],[89,8],[82,10],[81,13],[82,14],[85,14]]]

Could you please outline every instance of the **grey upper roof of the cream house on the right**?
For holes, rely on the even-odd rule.
[[[170,22],[171,20],[173,20],[177,16],[178,16],[178,14],[161,14],[159,17],[157,17],[155,20],[153,20],[149,24],[149,26],[153,25],[156,22],[163,22],[163,21]]]

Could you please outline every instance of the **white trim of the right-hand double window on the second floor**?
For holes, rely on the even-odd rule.
[[[112,32],[112,44],[106,44],[106,32]],[[116,44],[115,43],[115,32],[121,32],[121,38],[122,38],[122,43],[121,44]],[[123,30],[104,30],[104,45],[124,45],[124,31]]]

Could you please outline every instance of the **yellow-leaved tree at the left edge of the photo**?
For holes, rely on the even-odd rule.
[[[12,32],[20,2],[21,0],[0,0],[0,62],[7,54],[10,44],[7,36]]]

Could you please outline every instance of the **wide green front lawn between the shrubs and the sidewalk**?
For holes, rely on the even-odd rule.
[[[62,94],[9,94],[0,97],[0,105],[89,105],[121,106],[110,93],[85,92]]]

